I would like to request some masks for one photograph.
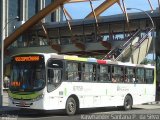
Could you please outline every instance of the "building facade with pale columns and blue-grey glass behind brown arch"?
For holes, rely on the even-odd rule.
[[[39,10],[54,2],[54,0],[0,0],[0,28],[2,31],[1,39],[5,39],[14,29],[25,23]],[[44,23],[59,22],[63,18],[60,9],[49,14],[43,19]]]

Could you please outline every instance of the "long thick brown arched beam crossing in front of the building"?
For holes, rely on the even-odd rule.
[[[49,4],[46,8],[40,10],[36,15],[31,17],[23,25],[17,28],[10,36],[4,40],[4,49],[11,45],[19,36],[21,36],[26,30],[34,26],[41,21],[46,15],[55,11],[60,5],[69,2],[70,0],[55,0],[55,2]]]

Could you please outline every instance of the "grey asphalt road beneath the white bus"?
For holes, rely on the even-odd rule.
[[[147,106],[150,107],[134,107],[130,111],[122,111],[117,108],[85,109],[74,116],[67,116],[63,111],[41,113],[39,111],[16,110],[6,112],[0,118],[6,118],[7,120],[159,120],[160,105],[158,105],[159,107],[157,105]]]

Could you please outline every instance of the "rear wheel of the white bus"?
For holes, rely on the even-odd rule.
[[[131,110],[132,105],[133,105],[132,97],[130,95],[127,95],[124,99],[123,109],[124,110]]]

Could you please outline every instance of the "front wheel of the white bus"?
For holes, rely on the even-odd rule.
[[[69,97],[66,102],[66,114],[75,115],[77,113],[77,103],[73,97]]]

